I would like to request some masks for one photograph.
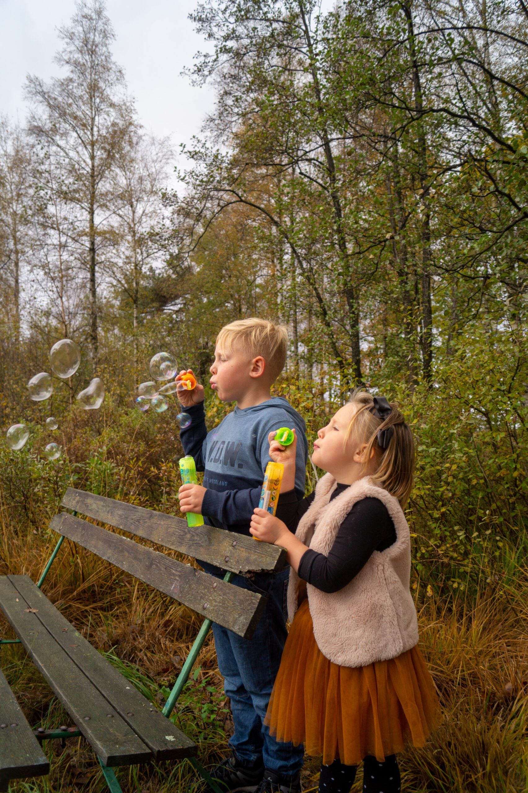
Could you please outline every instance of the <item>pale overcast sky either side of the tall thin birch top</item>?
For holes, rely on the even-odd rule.
[[[206,48],[187,19],[194,6],[193,0],[106,2],[117,35],[114,57],[124,67],[140,121],[156,136],[170,135],[175,148],[200,132],[214,103],[209,86],[193,87],[180,76],[194,53]],[[53,63],[56,28],[74,10],[75,0],[0,0],[0,113],[24,123],[25,77],[59,74]]]

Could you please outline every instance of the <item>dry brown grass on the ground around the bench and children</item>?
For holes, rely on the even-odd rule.
[[[10,522],[2,509],[0,573],[27,573],[36,580],[55,545],[56,535],[45,527],[25,529]],[[517,554],[517,558],[519,555]],[[94,646],[112,649],[116,663],[136,684],[149,680],[162,686],[174,681],[189,651],[199,619],[186,607],[166,599],[101,561],[65,542],[44,584],[44,592]],[[427,597],[425,586],[415,591],[421,642],[442,702],[444,721],[424,749],[407,749],[401,757],[403,789],[450,793],[522,793],[528,790],[528,580],[526,569],[509,569],[507,577],[486,583],[482,573],[476,592],[446,600]],[[0,618],[0,635],[12,637]],[[210,697],[200,681],[220,692],[209,638],[200,657],[201,672],[181,701],[178,719],[200,743],[201,760],[214,762],[227,747],[224,728],[230,720],[220,693]],[[20,646],[4,646],[2,668],[29,722],[56,726],[68,717],[52,698]],[[158,702],[161,698],[158,697]],[[201,707],[216,712],[211,722]],[[198,714],[198,716],[197,716]],[[85,741],[45,745],[52,773],[45,780],[13,784],[13,791],[94,793],[104,788],[94,754]],[[175,793],[197,791],[189,764],[121,769],[124,791]],[[317,785],[316,758],[307,758],[304,790]],[[362,787],[361,774],[354,791]]]

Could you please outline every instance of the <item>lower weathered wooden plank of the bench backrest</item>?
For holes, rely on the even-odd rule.
[[[258,623],[266,602],[261,595],[66,512],[55,515],[50,528],[243,638],[250,638]]]

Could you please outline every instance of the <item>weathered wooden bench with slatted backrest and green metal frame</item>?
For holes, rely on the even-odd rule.
[[[111,791],[121,791],[113,767],[183,758],[189,759],[209,785],[218,791],[195,757],[196,745],[169,721],[169,717],[212,622],[250,638],[260,619],[265,598],[231,584],[233,575],[252,571],[277,572],[284,566],[285,551],[265,542],[254,542],[250,536],[214,527],[189,528],[186,521],[173,515],[73,488],[67,489],[61,506],[72,510],[73,514],[61,512],[52,519],[50,527],[61,536],[39,582],[34,584],[27,576],[0,577],[0,607],[18,636],[14,641],[20,641],[25,647],[76,725],[76,729],[67,730],[46,731],[40,728],[37,737],[64,740],[82,734],[94,749]],[[98,524],[88,523],[78,518],[78,513],[199,561],[217,565],[227,571],[224,580]],[[205,617],[163,711],[160,712],[117,672],[40,591],[65,538]],[[13,640],[2,640],[4,642]],[[15,722],[22,724],[19,718]],[[20,734],[22,736],[22,730]],[[29,746],[27,730],[24,735]],[[34,736],[31,737],[35,741]],[[17,737],[10,740],[16,743]],[[0,751],[1,748],[2,730]],[[40,749],[38,744],[36,749]],[[43,757],[35,754],[34,766],[26,764],[24,767],[20,761],[20,775],[24,768],[29,769],[26,776],[46,773],[48,769],[45,768],[45,757],[44,765],[42,763]],[[16,778],[16,768],[5,778]]]

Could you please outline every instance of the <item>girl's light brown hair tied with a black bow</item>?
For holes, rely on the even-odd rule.
[[[371,480],[405,507],[415,470],[415,443],[403,413],[396,402],[388,403],[385,397],[373,397],[366,391],[354,391],[349,401],[358,409],[346,437],[354,432],[354,441],[367,444],[365,468],[374,450],[377,465]]]

